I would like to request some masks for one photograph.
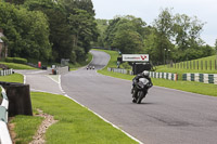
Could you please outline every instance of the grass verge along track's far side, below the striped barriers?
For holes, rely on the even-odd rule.
[[[100,51],[104,51],[108,53],[111,55],[111,61],[104,69],[98,70],[98,73],[106,75],[106,76],[111,76],[111,77],[127,79],[127,80],[131,80],[135,77],[130,75],[107,71],[107,67],[116,67],[116,60],[117,60],[118,53],[115,51],[108,51],[108,50],[100,50]],[[207,83],[201,83],[201,82],[194,82],[194,81],[181,81],[181,80],[171,81],[171,80],[155,79],[155,78],[152,78],[152,81],[154,86],[158,86],[158,87],[165,87],[165,88],[177,89],[181,91],[193,92],[193,93],[199,93],[199,94],[204,94],[204,95],[217,96],[217,84],[207,84]]]

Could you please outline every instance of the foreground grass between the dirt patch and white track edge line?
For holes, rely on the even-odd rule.
[[[137,143],[87,108],[62,95],[33,92],[31,102],[34,108],[40,108],[59,120],[46,132],[47,144]]]

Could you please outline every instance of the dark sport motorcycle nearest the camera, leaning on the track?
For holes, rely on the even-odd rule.
[[[140,78],[136,83],[132,92],[132,103],[140,104],[142,99],[145,97],[148,90],[151,88],[151,83],[146,78]]]

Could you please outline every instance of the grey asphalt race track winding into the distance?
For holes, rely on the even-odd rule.
[[[100,69],[107,64],[106,53],[91,53],[89,65]],[[144,144],[217,143],[217,97],[153,87],[138,105],[131,103],[131,81],[86,67],[62,75],[61,82],[44,71],[18,73],[33,91],[66,93]]]

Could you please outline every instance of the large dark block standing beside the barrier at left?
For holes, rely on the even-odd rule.
[[[10,117],[15,115],[33,116],[29,84],[3,81],[0,81],[0,84],[7,91]]]

